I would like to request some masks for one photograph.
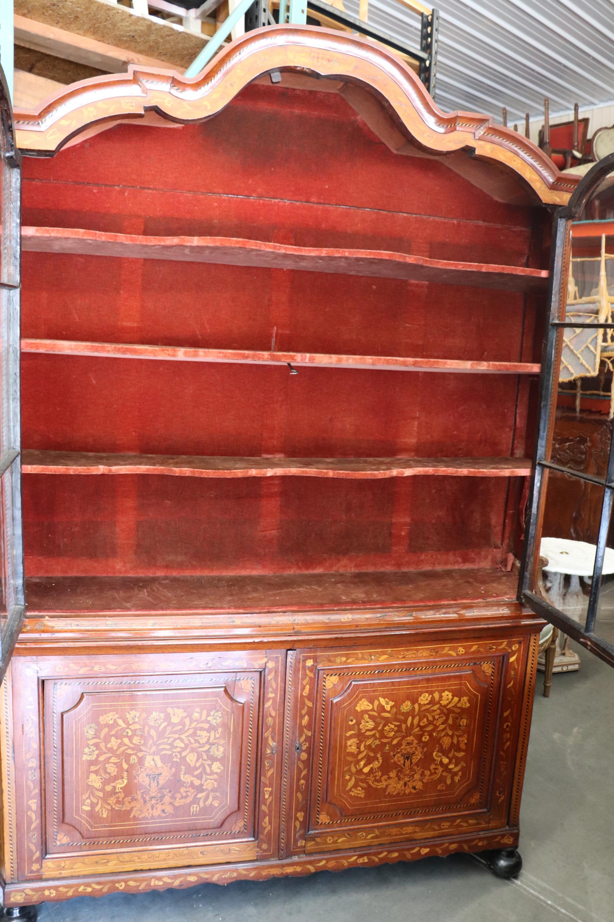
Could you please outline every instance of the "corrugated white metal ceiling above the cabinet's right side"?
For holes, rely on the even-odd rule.
[[[344,0],[357,14],[358,0]],[[442,109],[488,112],[508,124],[614,102],[614,0],[434,0]],[[420,19],[398,0],[369,0],[369,21],[420,47]]]

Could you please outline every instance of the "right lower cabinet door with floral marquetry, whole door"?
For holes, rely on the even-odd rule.
[[[289,654],[283,854],[513,825],[529,644]]]

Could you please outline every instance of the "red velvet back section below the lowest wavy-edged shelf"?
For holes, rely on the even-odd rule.
[[[156,475],[24,478],[38,575],[319,573],[492,566],[507,481]]]

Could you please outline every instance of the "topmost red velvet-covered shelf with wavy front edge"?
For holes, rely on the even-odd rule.
[[[78,228],[21,229],[22,249],[35,253],[170,259],[269,269],[301,269],[505,291],[545,290],[548,272],[524,266],[455,263],[380,250],[320,249],[233,237],[145,237]]]

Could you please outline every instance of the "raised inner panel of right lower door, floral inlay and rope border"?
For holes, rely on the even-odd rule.
[[[499,673],[495,657],[322,669],[307,837],[326,827],[327,848],[358,845],[377,819],[376,839],[394,841],[394,823],[484,810]]]

